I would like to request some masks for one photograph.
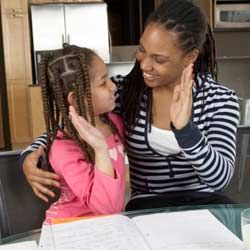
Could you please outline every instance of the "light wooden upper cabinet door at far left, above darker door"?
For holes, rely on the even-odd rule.
[[[3,14],[2,25],[6,78],[31,83],[28,14]]]

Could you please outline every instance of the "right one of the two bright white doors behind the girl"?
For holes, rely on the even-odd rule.
[[[67,4],[65,22],[70,44],[89,47],[110,62],[106,3]]]

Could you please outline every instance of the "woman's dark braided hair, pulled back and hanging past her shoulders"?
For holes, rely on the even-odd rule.
[[[210,25],[199,7],[187,0],[162,0],[149,16],[146,26],[151,23],[157,23],[167,31],[177,34],[183,52],[198,49],[200,53],[194,63],[194,73],[209,73],[217,79],[215,42]],[[136,115],[145,89],[149,91],[149,117],[152,117],[151,89],[146,87],[140,64],[136,61],[121,92],[121,111],[128,128],[133,128],[136,123]],[[150,118],[149,122],[151,121]]]

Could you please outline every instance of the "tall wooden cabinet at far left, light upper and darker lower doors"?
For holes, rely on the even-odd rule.
[[[29,142],[28,85],[32,84],[28,0],[2,0],[4,60],[13,144]]]

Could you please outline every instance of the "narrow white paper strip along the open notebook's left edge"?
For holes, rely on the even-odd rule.
[[[54,250],[54,241],[51,225],[43,225],[38,250]]]

